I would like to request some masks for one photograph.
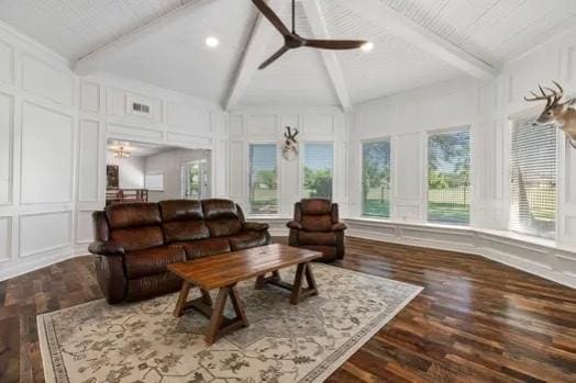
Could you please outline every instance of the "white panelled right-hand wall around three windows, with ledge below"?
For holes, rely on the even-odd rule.
[[[509,120],[538,114],[523,101],[538,83],[556,80],[576,94],[576,32],[558,36],[509,63],[492,81],[455,79],[357,105],[350,135],[350,234],[388,241],[480,254],[576,286],[576,150],[558,135],[556,241],[508,233]],[[427,135],[472,128],[472,229],[427,224]],[[361,143],[392,140],[392,216],[375,223],[361,217]]]

